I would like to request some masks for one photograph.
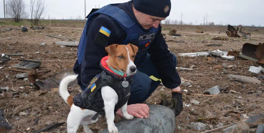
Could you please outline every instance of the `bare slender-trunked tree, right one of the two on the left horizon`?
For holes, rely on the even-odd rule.
[[[30,0],[31,23],[38,25],[40,17],[45,11],[45,0]]]

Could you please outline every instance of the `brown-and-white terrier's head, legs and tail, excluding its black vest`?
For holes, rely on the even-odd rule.
[[[137,46],[130,43],[127,45],[112,44],[108,47],[105,47],[105,50],[108,53],[108,66],[115,68],[116,70],[127,75],[133,75],[136,73],[137,70],[134,64],[134,59],[138,51]],[[75,133],[78,127],[82,125],[86,133],[92,133],[92,130],[88,127],[88,124],[98,121],[98,118],[96,118],[96,120],[92,120],[92,117],[98,112],[75,106],[73,104],[73,96],[71,96],[67,91],[68,84],[74,81],[77,76],[77,74],[66,76],[61,80],[59,85],[60,96],[71,108],[67,117],[67,132]],[[114,108],[118,101],[117,92],[110,86],[104,86],[101,88],[101,95],[104,102],[103,106],[108,132],[117,133],[118,129],[114,125]],[[133,116],[127,112],[127,102],[121,107],[121,112],[123,113],[125,119],[133,119]],[[99,117],[100,116],[101,115],[99,115]]]

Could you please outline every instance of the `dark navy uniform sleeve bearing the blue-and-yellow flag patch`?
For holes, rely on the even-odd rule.
[[[84,86],[87,86],[94,76],[102,72],[100,61],[107,56],[105,47],[120,43],[122,36],[121,27],[106,15],[101,14],[89,23],[80,76]]]

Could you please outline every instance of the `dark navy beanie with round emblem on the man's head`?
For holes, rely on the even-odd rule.
[[[170,15],[170,0],[133,0],[134,8],[141,13],[155,17]]]

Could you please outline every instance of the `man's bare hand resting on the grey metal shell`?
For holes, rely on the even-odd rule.
[[[135,116],[138,118],[143,118],[143,117],[148,118],[150,116],[149,111],[150,111],[150,108],[147,106],[147,104],[127,105],[128,114],[131,114],[132,116]],[[116,114],[123,117],[123,113],[121,112],[121,109],[118,109]]]

